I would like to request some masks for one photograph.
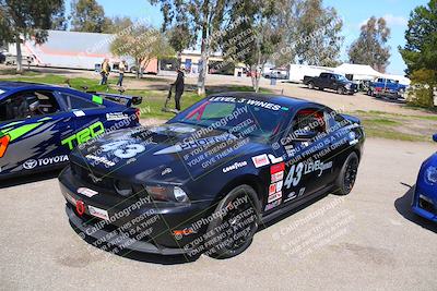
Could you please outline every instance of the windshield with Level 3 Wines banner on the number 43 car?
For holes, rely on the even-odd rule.
[[[277,133],[287,113],[288,108],[268,101],[212,97],[181,112],[170,122],[269,138]]]

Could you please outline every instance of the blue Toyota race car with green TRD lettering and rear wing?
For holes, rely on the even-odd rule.
[[[0,179],[62,167],[76,145],[139,125],[140,97],[0,82]]]

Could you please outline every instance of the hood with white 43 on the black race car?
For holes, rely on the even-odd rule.
[[[166,123],[116,131],[73,150],[71,161],[135,182],[184,183],[265,145],[199,125]]]

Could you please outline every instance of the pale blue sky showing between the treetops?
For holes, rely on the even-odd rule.
[[[70,8],[69,0],[67,9]],[[161,11],[152,7],[147,0],[97,0],[108,16],[127,15],[132,19],[149,19],[149,21],[160,26],[163,19]],[[324,4],[335,8],[339,15],[343,19],[343,45],[341,59],[346,60],[346,49],[359,35],[361,25],[371,15],[377,17],[385,16],[391,28],[390,65],[388,73],[403,74],[405,64],[398,52],[398,46],[405,44],[404,32],[406,29],[410,12],[417,5],[424,5],[428,0],[324,0]]]

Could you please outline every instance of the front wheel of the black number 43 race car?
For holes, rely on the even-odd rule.
[[[245,198],[247,197],[247,198]],[[217,259],[237,256],[252,242],[260,223],[260,203],[249,185],[233,189],[217,205],[208,227],[206,255]]]

